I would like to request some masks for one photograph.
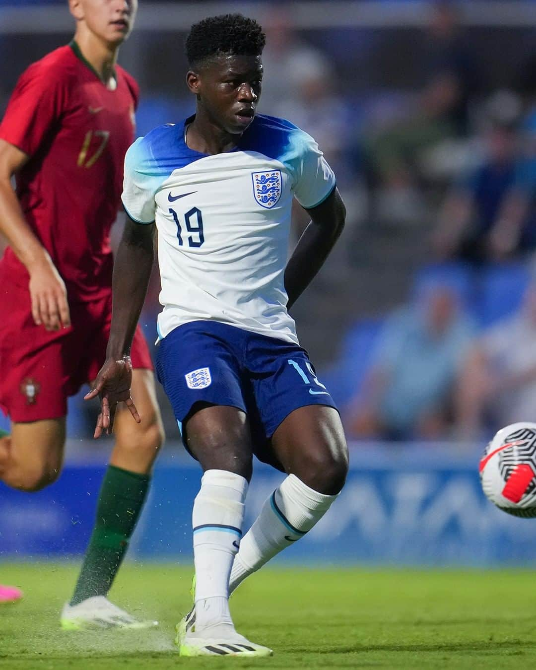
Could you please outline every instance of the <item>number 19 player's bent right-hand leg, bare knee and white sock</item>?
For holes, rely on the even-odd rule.
[[[279,551],[303,537],[328,511],[348,471],[338,412],[324,405],[295,409],[272,438],[288,476],[243,537],[230,575],[232,592]]]

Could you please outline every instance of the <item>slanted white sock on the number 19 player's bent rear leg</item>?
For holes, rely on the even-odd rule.
[[[232,564],[229,593],[279,551],[310,531],[336,497],[318,493],[289,474],[266,500],[261,513],[244,535]]]

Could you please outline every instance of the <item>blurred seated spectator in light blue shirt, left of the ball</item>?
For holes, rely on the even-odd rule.
[[[413,306],[387,320],[362,391],[345,412],[348,435],[444,437],[453,423],[454,389],[473,333],[448,281],[421,287]]]

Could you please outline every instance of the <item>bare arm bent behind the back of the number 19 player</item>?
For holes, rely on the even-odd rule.
[[[346,208],[338,188],[312,209],[306,209],[311,221],[304,230],[285,269],[285,290],[290,309],[308,287],[333,249],[344,228]]]

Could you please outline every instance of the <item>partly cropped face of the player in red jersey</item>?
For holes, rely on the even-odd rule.
[[[78,24],[107,44],[121,44],[129,36],[137,11],[137,0],[69,0]]]

